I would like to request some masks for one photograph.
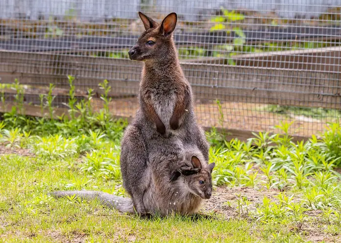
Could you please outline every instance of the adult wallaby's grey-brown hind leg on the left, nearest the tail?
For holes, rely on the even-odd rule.
[[[146,213],[143,195],[149,186],[150,174],[147,170],[147,152],[141,131],[129,125],[121,144],[121,171],[123,187],[131,195],[137,213]]]

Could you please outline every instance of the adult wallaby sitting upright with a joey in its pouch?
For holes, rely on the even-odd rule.
[[[195,121],[192,89],[181,70],[172,40],[177,17],[171,13],[162,24],[157,24],[146,15],[139,15],[146,31],[129,50],[129,57],[145,62],[140,109],[124,131],[120,159],[123,187],[130,194],[132,204],[126,210],[129,199],[121,204],[118,197],[97,192],[53,195],[99,197],[109,206],[121,211],[135,210],[139,214],[155,209],[163,215],[171,210],[191,214],[197,210],[200,198],[208,198],[211,193],[214,164],[207,165],[209,145],[203,129]],[[190,147],[189,151],[196,147],[198,153],[190,164],[181,165],[179,162],[187,154],[184,145]],[[199,166],[196,160],[203,163]],[[179,195],[182,197],[176,197]],[[170,207],[169,203],[174,202]]]

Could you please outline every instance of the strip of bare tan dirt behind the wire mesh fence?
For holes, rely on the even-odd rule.
[[[100,103],[94,103],[98,109]],[[297,115],[281,115],[264,110],[265,104],[221,102],[221,114],[216,102],[200,102],[195,104],[195,114],[199,124],[205,127],[221,127],[226,129],[237,129],[242,131],[271,131],[280,132],[274,129],[281,121],[291,122],[290,133],[296,136],[310,137],[312,134],[319,134],[324,130],[327,122],[337,122],[336,118],[324,117],[314,119]],[[134,117],[138,109],[137,98],[113,99],[110,102],[110,110],[116,116]]]

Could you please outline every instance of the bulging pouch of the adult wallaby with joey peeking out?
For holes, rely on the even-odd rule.
[[[201,152],[192,148],[185,151],[182,162],[170,161],[169,156],[161,154],[159,159],[162,161],[150,166],[152,187],[144,194],[146,211],[162,216],[172,212],[195,214],[202,200],[211,197],[215,164],[208,165]]]

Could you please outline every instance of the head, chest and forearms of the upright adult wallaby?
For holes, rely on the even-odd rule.
[[[167,129],[176,130],[179,127],[192,101],[190,84],[180,67],[171,34],[176,25],[176,14],[169,14],[162,24],[139,14],[146,32],[129,50],[129,56],[132,60],[145,62],[140,84],[141,108],[155,124],[157,131],[165,134]],[[150,40],[155,42],[152,46],[147,44]],[[160,96],[168,97],[172,105],[165,106]],[[161,110],[161,114],[155,109]],[[160,117],[163,114],[170,119]]]

